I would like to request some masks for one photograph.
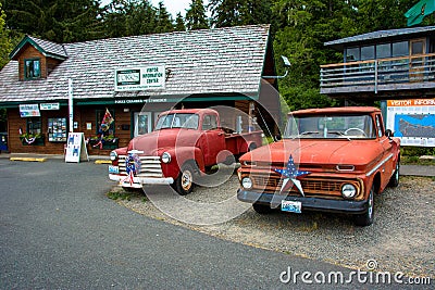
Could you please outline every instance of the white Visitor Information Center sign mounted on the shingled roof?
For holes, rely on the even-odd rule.
[[[115,70],[115,91],[164,89],[165,81],[164,65]]]

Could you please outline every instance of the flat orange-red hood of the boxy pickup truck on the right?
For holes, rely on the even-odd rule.
[[[368,142],[373,142],[368,146]],[[383,149],[376,140],[282,140],[256,149],[240,157],[240,162],[287,164],[289,155],[303,167],[319,165],[366,166],[382,157]],[[272,161],[272,162],[271,162]]]

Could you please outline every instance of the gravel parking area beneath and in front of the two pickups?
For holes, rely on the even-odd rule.
[[[233,176],[216,188],[196,188],[186,198],[219,202],[234,196],[237,188]],[[278,211],[259,215],[252,209],[223,224],[192,226],[164,215],[141,192],[119,203],[139,214],[235,242],[351,268],[366,269],[366,262],[375,260],[380,272],[434,278],[434,178],[401,177],[399,187],[376,197],[375,222],[370,227],[355,226],[347,215]]]

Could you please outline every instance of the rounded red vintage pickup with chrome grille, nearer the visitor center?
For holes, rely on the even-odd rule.
[[[187,194],[208,168],[262,146],[261,130],[227,134],[220,124],[219,113],[211,109],[164,112],[154,131],[111,152],[109,178],[125,188],[172,185]]]

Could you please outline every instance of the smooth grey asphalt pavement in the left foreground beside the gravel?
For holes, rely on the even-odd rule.
[[[350,272],[144,217],[104,196],[107,179],[94,163],[0,159],[1,289],[328,289],[300,273]],[[279,281],[289,267],[297,285]]]

